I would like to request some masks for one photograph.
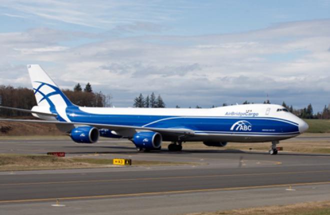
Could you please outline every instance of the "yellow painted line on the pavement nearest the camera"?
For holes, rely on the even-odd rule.
[[[79,200],[79,199],[88,199],[88,198],[95,199],[95,198],[114,198],[114,197],[134,197],[134,196],[146,196],[146,195],[157,195],[157,194],[181,194],[181,193],[189,193],[189,192],[228,191],[228,190],[243,190],[243,189],[253,189],[253,188],[282,187],[282,186],[289,186],[289,185],[302,186],[302,185],[320,185],[320,184],[330,184],[330,181],[256,185],[256,186],[237,186],[237,187],[226,187],[226,188],[169,190],[169,191],[159,191],[159,192],[138,192],[138,193],[108,194],[108,195],[89,195],[89,196],[86,195],[86,196],[53,197],[53,198],[0,200],[0,203],[37,202],[37,201],[51,201],[51,200],[56,200],[56,199]]]

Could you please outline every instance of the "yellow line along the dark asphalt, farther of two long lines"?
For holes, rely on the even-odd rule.
[[[134,181],[134,180],[184,179],[184,178],[203,178],[203,177],[230,177],[230,176],[252,176],[252,175],[302,174],[302,173],[321,173],[321,172],[330,172],[330,170],[291,171],[291,172],[283,171],[283,172],[242,173],[242,174],[212,174],[212,175],[191,175],[191,176],[167,176],[167,177],[141,177],[141,178],[117,178],[117,179],[100,179],[100,180],[22,182],[22,183],[2,183],[2,184],[0,184],[0,186],[33,185],[33,184],[37,185],[37,184],[63,184],[63,183],[90,183],[90,182]]]

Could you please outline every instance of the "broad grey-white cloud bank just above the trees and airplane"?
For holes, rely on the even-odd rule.
[[[60,44],[91,37],[97,41]],[[90,81],[95,90],[112,92],[116,106],[131,105],[139,92],[154,91],[170,106],[262,102],[269,94],[273,102],[311,102],[321,109],[330,93],[329,47],[330,20],[201,36],[112,37],[36,28],[0,33],[0,65],[41,63],[62,87]],[[17,73],[10,74],[13,69],[0,71],[8,73],[1,84],[19,84]]]

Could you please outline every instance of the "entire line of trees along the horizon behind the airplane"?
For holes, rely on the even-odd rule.
[[[101,91],[94,92],[91,84],[88,82],[84,88],[81,87],[80,83],[77,83],[73,89],[62,89],[63,93],[72,101],[72,103],[79,106],[94,106],[94,107],[108,107],[111,106],[111,95],[103,94]],[[243,104],[249,104],[250,102],[245,100]],[[253,103],[253,102],[252,102]],[[263,103],[270,103],[267,99]],[[13,87],[11,85],[0,85],[0,105],[17,107],[23,109],[31,109],[37,105],[32,89],[26,87]],[[222,106],[228,104],[223,103]],[[152,92],[145,98],[142,93],[134,98],[134,107],[165,107],[165,103],[161,98],[160,94],[156,97]],[[316,118],[316,119],[330,119],[330,107],[324,105],[321,112],[314,113],[313,107],[309,103],[303,108],[293,108],[292,105],[287,105],[284,101],[282,106],[286,107],[288,111],[300,118]],[[212,107],[215,107],[214,105]],[[176,108],[179,108],[176,105]],[[196,106],[196,108],[201,108]],[[8,109],[0,109],[1,116],[26,116],[30,115],[26,112],[12,111]]]

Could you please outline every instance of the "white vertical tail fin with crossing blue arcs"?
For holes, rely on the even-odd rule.
[[[55,82],[38,64],[28,64],[27,70],[31,79],[34,96],[38,106],[49,107],[66,120],[65,109],[74,104],[64,95]]]

